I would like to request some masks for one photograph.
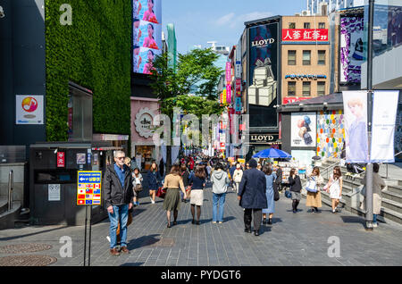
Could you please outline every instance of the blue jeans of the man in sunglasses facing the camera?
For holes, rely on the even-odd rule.
[[[110,248],[117,246],[116,231],[119,222],[121,246],[127,246],[127,221],[129,219],[129,205],[113,205],[113,214],[108,214],[110,220]]]

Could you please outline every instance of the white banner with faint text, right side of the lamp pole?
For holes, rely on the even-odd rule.
[[[394,134],[399,91],[374,91],[372,163],[395,163]]]

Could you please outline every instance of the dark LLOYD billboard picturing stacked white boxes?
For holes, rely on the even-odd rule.
[[[269,106],[277,96],[278,22],[249,29],[248,102]]]

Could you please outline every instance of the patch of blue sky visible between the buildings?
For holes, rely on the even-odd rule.
[[[174,23],[177,49],[187,53],[194,45],[235,46],[245,21],[274,15],[294,15],[306,10],[306,0],[161,0],[162,21]]]

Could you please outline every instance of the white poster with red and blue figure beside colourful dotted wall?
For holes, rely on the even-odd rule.
[[[292,113],[291,146],[314,147],[317,136],[315,113]]]

